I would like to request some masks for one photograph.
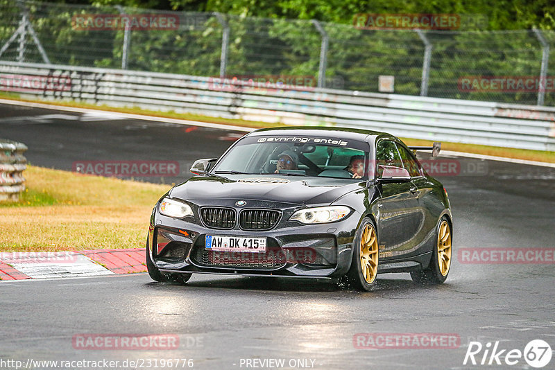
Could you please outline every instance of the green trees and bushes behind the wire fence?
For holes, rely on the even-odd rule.
[[[537,93],[466,92],[464,76],[538,76],[542,49],[531,28],[543,30],[555,47],[555,2],[534,1],[354,1],[354,0],[66,0],[24,1],[33,29],[54,64],[121,68],[123,31],[75,30],[78,14],[175,12],[178,30],[131,31],[128,69],[219,76],[223,27],[230,26],[227,76],[318,76],[323,22],[330,37],[326,86],[378,91],[378,76],[395,76],[395,93],[418,95],[424,44],[413,30],[361,30],[357,13],[456,13],[460,30],[425,31],[432,42],[428,96],[536,104]],[[0,44],[17,30],[22,10],[0,0]],[[475,19],[487,19],[481,24]],[[42,62],[26,35],[25,62]],[[18,41],[1,60],[18,60]],[[554,71],[550,58],[549,71]],[[555,73],[553,73],[555,75]],[[545,105],[555,105],[547,92]]]

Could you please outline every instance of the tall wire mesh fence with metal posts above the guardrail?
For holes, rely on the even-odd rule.
[[[318,87],[367,92],[379,91],[379,76],[393,76],[395,94],[555,105],[549,83],[522,89],[461,85],[464,78],[552,82],[552,30],[364,30],[307,20],[19,0],[0,0],[0,14],[5,61],[190,76],[311,76]],[[170,29],[80,26],[87,17],[109,15],[177,22]]]

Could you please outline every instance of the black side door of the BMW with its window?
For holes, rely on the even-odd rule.
[[[381,175],[379,165],[402,167],[394,141],[381,139],[377,142],[376,165],[377,176]],[[410,181],[379,182],[377,188],[381,195],[377,201],[380,254],[384,257],[401,256],[416,234],[417,188]]]

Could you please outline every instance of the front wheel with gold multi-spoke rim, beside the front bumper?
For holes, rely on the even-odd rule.
[[[348,280],[357,290],[371,292],[376,288],[379,261],[376,227],[370,218],[362,220],[353,240],[352,249]]]

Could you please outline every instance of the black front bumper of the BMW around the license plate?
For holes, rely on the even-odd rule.
[[[284,212],[284,217],[290,213]],[[147,252],[163,272],[330,278],[348,272],[358,222],[353,211],[327,224],[282,220],[268,231],[220,230],[200,220],[177,220],[154,211]],[[205,249],[207,235],[266,238],[266,252],[210,251]]]

